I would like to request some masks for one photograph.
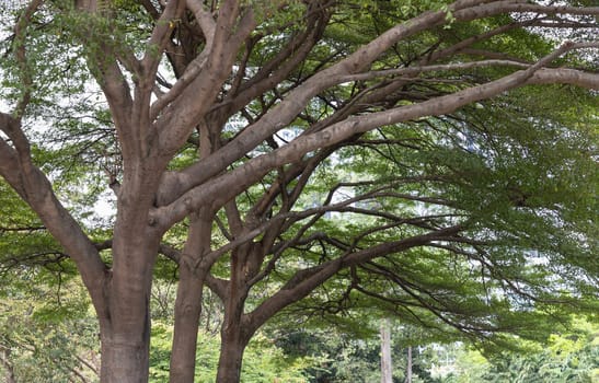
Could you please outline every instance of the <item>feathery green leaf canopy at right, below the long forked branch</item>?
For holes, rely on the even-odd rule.
[[[359,326],[365,315],[392,312],[446,340],[473,339],[470,329],[480,328],[485,347],[510,347],[509,333],[542,339],[556,318],[567,320],[571,309],[556,311],[545,303],[551,297],[572,303],[572,312],[596,311],[596,295],[576,293],[592,291],[599,275],[594,234],[599,173],[587,155],[597,144],[594,112],[586,100],[561,109],[542,107],[541,101],[527,104],[526,97],[541,98],[538,92],[516,92],[526,105],[499,98],[454,116],[380,128],[364,141],[400,144],[347,146],[337,152],[338,161],[323,164],[304,189],[306,206],[324,204],[333,185],[354,179],[360,183],[338,195],[368,196],[383,187],[387,193],[356,204],[371,217],[348,210],[308,228],[306,236],[327,236],[288,251],[287,264],[277,267],[284,280],[298,264],[316,266],[349,246],[367,248],[426,232],[418,223],[399,228],[382,214],[415,222],[438,216],[433,221],[439,225],[466,217],[474,245],[418,247],[341,271],[289,313],[346,327]],[[545,98],[557,97],[543,92]],[[526,107],[534,108],[538,119],[521,114]],[[567,123],[573,113],[580,117],[576,129]],[[285,235],[296,233],[291,228]]]

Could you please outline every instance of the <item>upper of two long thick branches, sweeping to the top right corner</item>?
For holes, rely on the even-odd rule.
[[[572,12],[574,14],[595,14],[595,9],[575,9],[560,7],[532,7],[512,2],[483,3],[458,1],[452,5],[453,18],[458,21],[471,21],[508,11],[544,11],[544,13]],[[472,7],[474,5],[474,7]],[[238,137],[209,158],[200,161],[177,174],[164,177],[158,194],[158,204],[168,205],[181,195],[220,173],[224,166],[242,158],[260,142],[287,126],[301,113],[309,101],[322,90],[339,83],[341,79],[357,74],[366,69],[380,54],[396,42],[414,35],[425,28],[446,23],[445,12],[427,12],[408,22],[392,27],[371,43],[362,46],[344,60],[316,73],[303,84],[291,91],[276,107],[266,113],[260,120],[244,129]],[[538,68],[534,68],[538,69]],[[534,70],[533,69],[533,70]]]

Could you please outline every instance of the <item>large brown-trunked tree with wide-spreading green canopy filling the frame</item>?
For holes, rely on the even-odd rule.
[[[178,267],[172,382],[193,381],[205,287],[223,306],[219,382],[289,309],[379,302],[441,332],[532,335],[596,303],[597,15],[32,0],[2,16],[0,174],[89,290],[103,382],[148,380],[160,254]],[[82,212],[102,183],[107,228]]]

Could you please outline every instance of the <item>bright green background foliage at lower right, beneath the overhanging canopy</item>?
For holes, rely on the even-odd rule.
[[[518,352],[503,350],[486,358],[463,343],[430,343],[419,327],[392,326],[394,381],[405,380],[406,348],[412,346],[413,382],[588,382],[598,378],[597,323],[576,317],[574,327],[553,334],[543,344],[523,343]],[[310,382],[375,382],[380,380],[380,339],[335,329],[297,330],[278,325],[276,344],[290,356],[318,356],[308,370]]]

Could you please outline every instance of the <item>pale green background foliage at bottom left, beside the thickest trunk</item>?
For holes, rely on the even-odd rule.
[[[96,320],[77,280],[21,267],[2,274],[0,349],[18,382],[97,380]],[[2,368],[0,368],[2,371]]]

